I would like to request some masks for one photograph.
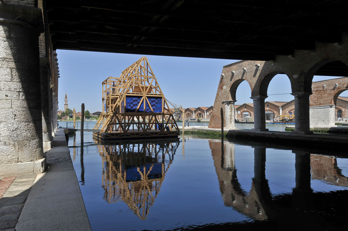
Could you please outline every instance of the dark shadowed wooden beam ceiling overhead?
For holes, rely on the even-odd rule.
[[[272,60],[348,31],[344,0],[47,0],[46,9],[54,49]]]

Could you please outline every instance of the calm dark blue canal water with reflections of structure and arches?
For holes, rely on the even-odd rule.
[[[69,138],[93,230],[347,230],[340,153],[180,137],[99,144]]]

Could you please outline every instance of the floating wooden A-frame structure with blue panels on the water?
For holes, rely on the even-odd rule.
[[[94,129],[101,139],[177,137],[179,128],[148,59],[142,57],[102,83],[103,111]]]

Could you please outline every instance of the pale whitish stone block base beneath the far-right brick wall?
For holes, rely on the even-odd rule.
[[[315,128],[337,127],[335,125],[335,105],[310,106],[309,123],[310,127]]]

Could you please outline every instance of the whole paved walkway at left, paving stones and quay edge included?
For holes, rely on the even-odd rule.
[[[63,129],[53,146],[47,172],[1,179],[1,231],[91,230]]]

